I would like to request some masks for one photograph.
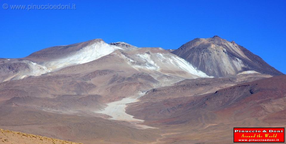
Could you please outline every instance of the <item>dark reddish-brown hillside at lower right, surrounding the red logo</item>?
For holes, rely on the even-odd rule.
[[[129,104],[127,113],[165,129],[159,143],[232,143],[233,127],[285,127],[286,76],[216,92]],[[167,134],[166,134],[167,133]]]

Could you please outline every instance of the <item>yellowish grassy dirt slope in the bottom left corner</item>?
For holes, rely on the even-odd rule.
[[[0,128],[0,143],[7,144],[30,144],[30,143],[52,143],[52,144],[77,144],[74,142],[42,137],[34,134],[25,134],[17,131],[3,130]]]

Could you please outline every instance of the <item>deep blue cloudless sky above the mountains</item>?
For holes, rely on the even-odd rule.
[[[5,3],[76,4],[76,10],[4,10]],[[1,0],[0,6],[0,58],[95,38],[177,49],[194,38],[219,35],[286,73],[285,0]]]

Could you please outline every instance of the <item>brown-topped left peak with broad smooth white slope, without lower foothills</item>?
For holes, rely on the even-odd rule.
[[[48,70],[55,70],[75,64],[84,64],[108,55],[120,47],[106,44],[102,39],[57,46],[34,52],[24,59],[44,65]]]

